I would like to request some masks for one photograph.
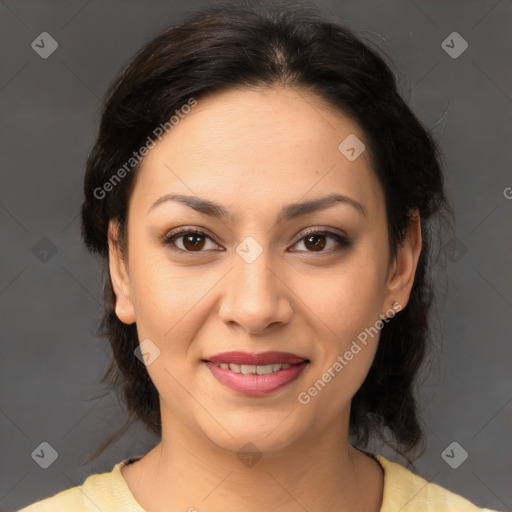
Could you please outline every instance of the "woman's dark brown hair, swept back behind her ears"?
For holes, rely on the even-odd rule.
[[[110,342],[113,359],[102,382],[121,393],[129,413],[125,426],[99,453],[137,420],[160,434],[161,420],[158,391],[134,356],[136,325],[117,318],[108,272],[108,223],[117,220],[126,238],[139,166],[123,173],[108,193],[97,191],[190,98],[200,101],[230,88],[273,85],[315,93],[362,128],[385,193],[391,254],[403,240],[411,212],[420,213],[423,246],[410,300],[382,328],[375,360],[352,400],[350,434],[356,446],[366,447],[375,436],[406,458],[424,443],[414,385],[432,338],[431,231],[434,219],[452,210],[444,193],[438,148],[400,96],[386,59],[371,41],[363,42],[341,23],[327,21],[316,7],[297,2],[274,8],[230,3],[203,8],[166,29],[120,72],[106,94],[97,140],[87,160],[82,204],[83,239],[104,261],[100,331]]]

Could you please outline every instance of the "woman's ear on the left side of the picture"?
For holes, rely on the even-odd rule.
[[[119,241],[119,223],[111,220],[108,226],[108,264],[110,279],[116,296],[116,315],[125,324],[135,322],[135,311],[130,295],[130,277],[128,266],[121,251]]]

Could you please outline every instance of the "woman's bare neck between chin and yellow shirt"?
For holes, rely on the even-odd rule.
[[[227,450],[196,435],[175,418],[166,420],[161,442],[123,468],[135,498],[147,510],[380,510],[380,466],[349,445],[341,421],[279,450],[246,448],[255,453],[244,455],[244,450]],[[128,478],[130,472],[135,476]]]

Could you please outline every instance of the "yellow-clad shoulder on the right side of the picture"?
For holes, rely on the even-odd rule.
[[[381,512],[494,512],[428,482],[406,467],[375,455],[384,469]]]

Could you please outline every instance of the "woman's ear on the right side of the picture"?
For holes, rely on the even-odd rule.
[[[384,309],[405,309],[409,302],[416,267],[421,253],[421,220],[418,210],[413,210],[411,221],[404,235],[404,240],[397,247],[396,257],[391,265],[387,280],[387,293]],[[399,306],[392,307],[398,302]]]

